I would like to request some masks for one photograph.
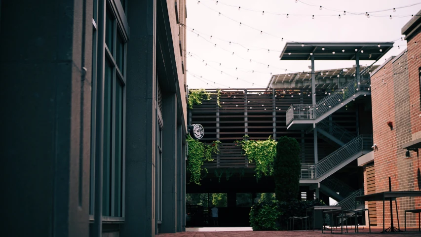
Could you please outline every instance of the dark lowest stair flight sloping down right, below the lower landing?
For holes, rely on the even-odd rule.
[[[329,176],[320,182],[320,191],[337,201],[341,201],[355,192],[353,188],[333,176]]]

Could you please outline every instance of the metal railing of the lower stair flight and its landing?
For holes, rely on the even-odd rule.
[[[371,150],[373,144],[372,135],[359,135],[346,143],[344,146],[319,160],[317,163],[301,164],[301,179],[317,179],[330,170],[334,169],[344,160],[355,156],[363,150]]]

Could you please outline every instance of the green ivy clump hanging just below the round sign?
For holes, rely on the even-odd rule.
[[[204,161],[212,161],[212,153],[219,153],[219,144],[221,142],[215,141],[210,145],[204,145],[202,142],[194,140],[189,135],[187,137],[189,144],[189,158],[187,160],[186,168],[190,172],[190,181],[197,185],[200,185],[200,180],[206,176],[208,170],[202,168]],[[202,176],[202,170],[205,172],[205,176]]]

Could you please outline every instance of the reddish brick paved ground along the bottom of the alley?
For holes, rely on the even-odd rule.
[[[418,229],[417,229],[418,230]],[[346,234],[346,236],[354,236],[354,237],[362,237],[362,236],[369,236],[369,237],[384,237],[383,234],[380,234],[380,229],[372,230],[376,233],[372,234]],[[340,232],[339,232],[340,233]],[[177,233],[177,234],[160,234],[157,237],[329,237],[332,236],[329,234],[322,234],[321,231],[226,231],[226,232],[184,232],[184,233]],[[337,235],[335,235],[337,236]],[[391,236],[404,236],[404,237],[420,237],[420,232],[414,233],[396,233],[392,234]]]

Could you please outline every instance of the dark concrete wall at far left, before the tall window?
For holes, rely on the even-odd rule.
[[[88,236],[92,1],[0,15],[2,236]]]

